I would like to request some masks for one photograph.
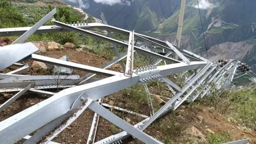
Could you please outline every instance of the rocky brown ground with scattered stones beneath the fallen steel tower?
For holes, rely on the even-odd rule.
[[[1,42],[0,42],[1,43]],[[9,42],[2,42],[8,44]],[[71,43],[60,45],[55,42],[35,42],[39,49],[38,54],[52,57],[61,58],[64,55],[70,59],[70,61],[80,64],[85,64],[94,67],[100,67],[107,63],[107,60],[103,57],[92,53],[92,49],[88,46],[81,45],[75,46]],[[44,63],[38,63],[33,61],[26,62],[29,64],[29,71],[22,74],[27,75],[42,75],[45,72],[51,74],[48,71],[48,65]],[[15,70],[15,67],[9,67],[1,71],[0,73],[7,73]],[[114,71],[123,72],[120,64],[115,64],[109,69]],[[44,73],[42,73],[44,72]],[[74,70],[74,75],[84,76],[87,72]],[[144,87],[136,91],[144,90]],[[154,91],[154,86],[149,86],[149,89]],[[161,90],[161,92],[164,90]],[[13,94],[2,94],[0,96],[0,104],[8,100]],[[114,105],[117,107],[133,110],[135,112],[150,116],[151,109],[149,109],[147,102],[144,99],[136,99],[133,97],[133,91],[125,90],[111,94],[104,98],[104,103]],[[155,92],[158,94],[158,92]],[[143,96],[143,95],[142,95]],[[146,98],[146,95],[144,95]],[[172,96],[170,96],[172,97]],[[48,96],[25,93],[15,102],[13,102],[8,108],[0,112],[0,121],[11,117],[26,108],[35,105],[45,99]],[[153,100],[154,98],[151,97]],[[146,98],[147,99],[147,98]],[[126,120],[130,124],[134,125],[144,118],[115,109],[110,109],[114,114]],[[61,132],[53,141],[62,144],[85,144],[89,135],[94,112],[86,110],[75,122],[73,122],[68,128]],[[241,140],[244,138],[250,138],[250,144],[256,144],[256,132],[247,131],[241,125],[236,125],[230,121],[227,121],[225,117],[215,112],[214,108],[209,108],[202,104],[189,105],[185,104],[179,107],[176,111],[170,112],[165,116],[159,118],[153,124],[151,124],[145,132],[152,137],[161,140],[164,143],[191,143],[190,138],[195,138],[193,143],[207,143],[207,139],[210,133],[223,133],[229,132],[232,140]],[[121,129],[111,124],[106,119],[100,117],[99,125],[97,128],[96,141],[113,134],[122,132]],[[18,143],[22,143],[19,141]],[[133,140],[128,138],[123,143],[138,144],[142,143],[139,140]]]

